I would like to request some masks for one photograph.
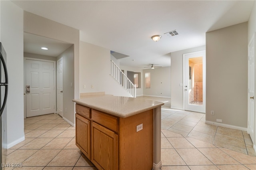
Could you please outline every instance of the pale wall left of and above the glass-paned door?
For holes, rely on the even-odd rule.
[[[171,53],[171,108],[183,109],[183,54],[205,50],[205,46],[184,49]],[[207,79],[207,77],[206,77]]]

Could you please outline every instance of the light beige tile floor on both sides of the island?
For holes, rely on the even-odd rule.
[[[202,113],[168,108],[166,102],[162,107],[162,170],[256,169],[246,132],[207,125]],[[6,160],[23,167],[6,170],[96,170],[76,147],[75,128],[60,116],[26,118],[24,127],[25,140],[8,149]]]

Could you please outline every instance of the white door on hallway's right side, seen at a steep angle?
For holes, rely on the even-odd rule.
[[[57,113],[63,117],[63,59],[57,61]]]

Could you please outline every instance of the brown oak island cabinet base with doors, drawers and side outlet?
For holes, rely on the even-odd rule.
[[[99,170],[152,170],[153,109],[121,118],[76,104],[76,145]]]

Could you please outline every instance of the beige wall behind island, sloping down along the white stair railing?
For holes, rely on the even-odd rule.
[[[104,91],[110,95],[130,97],[126,90],[110,77],[110,70],[110,49],[80,42],[80,93]]]

